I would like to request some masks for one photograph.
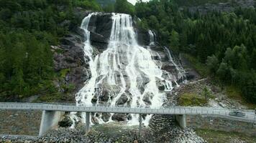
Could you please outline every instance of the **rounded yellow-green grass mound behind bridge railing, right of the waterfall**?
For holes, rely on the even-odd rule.
[[[205,97],[194,93],[185,93],[178,99],[180,106],[204,106],[207,103]]]

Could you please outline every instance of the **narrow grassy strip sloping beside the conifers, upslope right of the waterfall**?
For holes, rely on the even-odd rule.
[[[189,54],[183,54],[183,57],[188,59],[193,68],[196,69],[196,71],[198,71],[198,74],[200,74],[202,77],[207,77],[209,71],[208,68],[206,68],[206,64],[202,64],[200,61],[198,61],[198,59]]]

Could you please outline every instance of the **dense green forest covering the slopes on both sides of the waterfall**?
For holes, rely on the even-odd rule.
[[[152,0],[132,6],[116,0],[101,7],[92,0],[0,0],[0,98],[57,92],[50,46],[68,34],[70,27],[61,26],[65,19],[81,23],[73,15],[73,8],[80,6],[140,18],[137,25],[153,29],[161,44],[192,56],[207,67],[205,76],[239,89],[248,102],[256,103],[255,9],[202,14],[179,4]]]

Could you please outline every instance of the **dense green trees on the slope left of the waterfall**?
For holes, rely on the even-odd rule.
[[[101,11],[95,0],[0,0],[0,100],[58,96],[50,46],[68,34],[63,21],[80,24],[76,6]]]

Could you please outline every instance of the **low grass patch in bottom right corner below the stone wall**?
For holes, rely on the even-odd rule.
[[[238,132],[223,132],[215,131],[212,129],[196,129],[196,134],[198,134],[203,139],[206,139],[207,142],[219,142],[219,143],[228,143],[234,142],[234,140],[239,139],[247,143],[256,142],[256,137],[250,137],[247,134],[242,134]]]

